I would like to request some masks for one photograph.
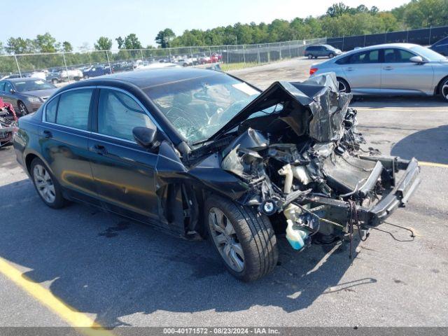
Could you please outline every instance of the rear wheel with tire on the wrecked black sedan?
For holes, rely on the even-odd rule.
[[[31,162],[31,176],[38,195],[48,207],[59,209],[64,207],[65,200],[62,190],[50,170],[39,158]]]

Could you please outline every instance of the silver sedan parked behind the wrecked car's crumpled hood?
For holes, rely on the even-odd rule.
[[[440,94],[448,101],[448,59],[421,45],[391,43],[352,50],[313,64],[311,76],[335,72],[353,94]]]

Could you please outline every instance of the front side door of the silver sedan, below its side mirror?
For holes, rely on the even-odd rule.
[[[381,92],[433,94],[433,66],[430,63],[417,64],[410,58],[416,56],[400,48],[384,49],[384,63],[381,69]]]

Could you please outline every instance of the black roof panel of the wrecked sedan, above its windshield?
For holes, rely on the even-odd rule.
[[[220,71],[208,70],[208,69],[195,69],[195,68],[181,68],[176,66],[170,66],[166,68],[158,69],[145,69],[139,71],[129,71],[113,73],[111,75],[98,76],[89,80],[82,80],[71,85],[70,87],[88,86],[92,81],[95,82],[104,80],[104,82],[110,83],[113,80],[127,82],[136,85],[141,89],[148,87],[158,86],[167,83],[175,83],[179,80],[188,80],[190,78],[200,78],[208,76],[218,76],[224,73]]]

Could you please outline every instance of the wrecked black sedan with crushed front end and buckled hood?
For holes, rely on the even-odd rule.
[[[328,73],[261,92],[205,69],[118,73],[20,118],[14,148],[49,207],[87,202],[209,237],[229,272],[253,281],[275,267],[278,239],[301,251],[362,237],[419,184],[415,159],[363,148],[336,83]]]

